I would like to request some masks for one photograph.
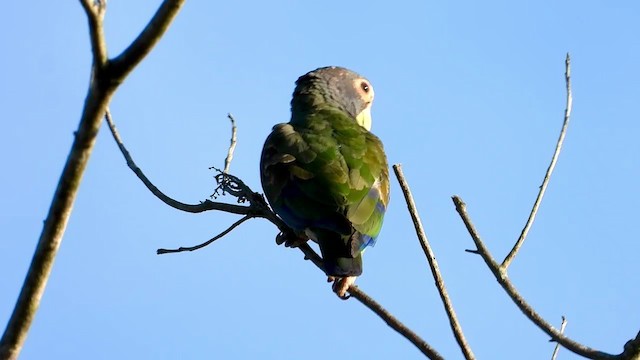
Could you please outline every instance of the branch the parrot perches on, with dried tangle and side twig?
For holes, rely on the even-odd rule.
[[[118,148],[120,149],[120,151],[122,152],[122,155],[127,161],[127,165],[129,166],[129,168],[138,176],[138,178],[147,186],[147,188],[156,197],[160,198],[163,202],[165,202],[169,206],[172,206],[179,210],[183,210],[181,207],[176,207],[172,205],[172,204],[182,204],[182,203],[160,192],[160,190],[158,190],[157,187],[153,185],[149,181],[149,179],[144,175],[142,170],[140,170],[140,168],[138,168],[135,165],[135,163],[133,162],[133,159],[129,155],[129,151],[125,147],[124,143],[122,142],[122,139],[120,138],[120,135],[117,132],[115,123],[109,112],[107,112],[106,118],[107,118],[107,123],[109,124],[109,129],[111,129],[113,139],[118,144]],[[193,248],[180,248],[176,250],[159,249],[158,250],[159,254],[161,253],[164,254],[169,252],[192,251],[192,250],[200,249],[202,247],[209,245],[213,241],[227,235],[229,232],[231,232],[231,230],[239,226],[242,222],[254,217],[261,217],[270,221],[282,233],[286,233],[286,234],[294,233],[294,231],[291,228],[289,228],[273,211],[271,211],[271,209],[265,202],[264,198],[260,194],[252,191],[242,180],[240,180],[239,178],[233,175],[226,174],[226,173],[221,173],[217,175],[216,179],[223,193],[228,193],[242,201],[248,201],[250,205],[238,206],[238,208],[241,208],[242,211],[234,212],[234,211],[229,211],[226,207],[222,206],[222,205],[228,205],[228,204],[209,202],[211,204],[215,204],[216,206],[209,205],[208,208],[204,210],[199,208],[199,210],[201,211],[219,210],[219,211],[231,212],[234,214],[242,214],[245,216],[239,221],[237,221],[236,223],[234,223],[233,225],[231,225],[231,227],[229,227],[227,230],[225,230],[218,236],[212,238],[211,240],[203,244],[197,245]],[[197,205],[189,205],[189,206],[197,207]],[[230,208],[230,209],[235,209],[235,208]],[[311,246],[309,246],[309,244],[304,243],[298,246],[298,249],[300,249],[300,251],[302,251],[302,253],[304,254],[305,260],[311,260],[311,262],[313,262],[314,265],[316,265],[320,270],[324,272],[324,265],[322,263],[322,258],[320,257],[320,255],[318,255],[318,253],[316,253],[311,248]],[[414,331],[412,331],[406,325],[404,325],[400,320],[398,320],[393,315],[391,315],[389,311],[385,310],[382,307],[382,305],[380,305],[375,300],[373,300],[373,298],[368,296],[364,291],[360,290],[360,288],[358,288],[355,285],[351,285],[348,289],[348,292],[352,297],[356,298],[363,305],[365,305],[371,311],[373,311],[376,315],[378,315],[382,320],[384,320],[384,322],[387,323],[389,327],[397,331],[400,335],[402,335],[404,338],[406,338],[412,344],[414,344],[418,348],[418,350],[420,350],[423,354],[425,354],[429,359],[432,359],[432,360],[443,359],[443,357],[440,354],[438,354],[438,352],[435,351],[426,341],[420,338],[418,334],[416,334]]]

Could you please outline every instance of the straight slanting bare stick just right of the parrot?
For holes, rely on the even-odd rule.
[[[424,255],[429,262],[429,267],[431,267],[431,273],[433,274],[433,279],[436,282],[436,287],[438,288],[438,292],[440,293],[440,299],[442,300],[442,304],[444,305],[444,309],[447,312],[447,317],[449,318],[449,324],[451,325],[451,330],[453,331],[453,335],[458,342],[458,346],[460,350],[462,350],[462,354],[464,358],[467,360],[475,359],[473,355],[473,351],[471,351],[471,347],[467,343],[467,339],[464,337],[464,332],[462,331],[462,326],[458,322],[458,317],[456,316],[456,312],[453,309],[453,304],[451,303],[451,299],[449,298],[449,294],[447,293],[447,288],[444,284],[444,279],[440,273],[440,268],[438,267],[438,262],[436,261],[435,253],[433,249],[431,249],[431,245],[429,244],[429,240],[427,239],[427,235],[424,232],[424,228],[422,227],[422,221],[420,220],[420,216],[418,215],[418,209],[416,208],[416,204],[413,201],[413,196],[411,195],[411,189],[409,188],[409,184],[405,180],[404,173],[402,172],[402,165],[395,164],[393,165],[393,170],[396,173],[396,177],[398,178],[398,183],[400,183],[400,188],[402,189],[402,193],[404,194],[404,198],[407,202],[407,207],[409,208],[409,214],[411,215],[411,220],[413,220],[413,226],[416,229],[416,234],[418,236],[418,240],[420,240],[420,245],[422,246],[422,251],[424,251]]]

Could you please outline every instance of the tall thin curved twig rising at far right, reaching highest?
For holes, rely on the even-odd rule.
[[[560,136],[558,136],[558,142],[556,143],[556,150],[553,152],[553,156],[551,157],[551,163],[547,168],[547,172],[544,174],[542,185],[540,185],[540,191],[538,192],[536,201],[533,203],[533,208],[531,209],[531,213],[529,214],[527,223],[524,225],[524,228],[520,233],[520,237],[516,241],[515,245],[513,246],[509,254],[502,261],[502,265],[500,265],[505,270],[509,267],[513,259],[518,254],[520,247],[522,247],[522,244],[524,243],[524,240],[527,237],[527,234],[529,233],[529,229],[531,229],[531,226],[533,225],[533,221],[535,220],[536,214],[538,213],[538,208],[540,207],[540,203],[542,202],[542,197],[544,196],[544,193],[547,190],[547,185],[549,185],[551,174],[553,173],[553,169],[556,167],[556,162],[558,161],[558,156],[560,155],[560,150],[562,149],[564,137],[567,133],[567,127],[569,126],[569,119],[571,118],[571,109],[573,107],[573,97],[571,95],[571,58],[569,57],[569,53],[567,53],[567,58],[565,60],[564,79],[567,87],[567,104],[564,110],[564,122],[562,123],[562,130],[560,130]]]

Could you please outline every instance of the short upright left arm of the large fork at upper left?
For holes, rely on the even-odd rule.
[[[82,8],[89,21],[89,37],[91,39],[91,51],[93,52],[94,75],[96,71],[104,69],[107,61],[107,43],[104,39],[104,14],[107,10],[106,0],[80,0]]]

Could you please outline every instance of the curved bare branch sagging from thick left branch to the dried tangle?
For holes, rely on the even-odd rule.
[[[144,183],[144,185],[151,191],[153,195],[155,195],[158,199],[162,200],[165,204],[171,206],[174,209],[182,210],[190,213],[199,213],[203,211],[209,210],[220,210],[233,214],[246,215],[250,212],[249,206],[240,206],[233,204],[225,204],[219,202],[213,202],[210,200],[205,200],[200,204],[185,204],[180,201],[174,200],[171,197],[165,195],[162,191],[160,191],[149,179],[145,176],[145,174],[140,170],[140,168],[136,165],[135,161],[129,154],[129,151],[124,146],[122,142],[122,138],[120,138],[120,134],[118,133],[118,129],[116,128],[115,122],[111,117],[111,112],[109,109],[105,112],[105,119],[107,120],[107,124],[109,125],[109,130],[111,130],[111,135],[113,135],[113,139],[118,144],[118,148],[120,152],[122,152],[122,156],[124,156],[127,161],[127,166],[138,176],[138,178]]]

